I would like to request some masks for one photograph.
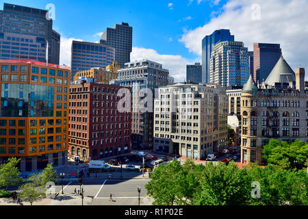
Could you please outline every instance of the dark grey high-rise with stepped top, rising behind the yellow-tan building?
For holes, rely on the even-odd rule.
[[[128,23],[116,24],[114,28],[107,27],[101,36],[102,41],[116,49],[115,60],[121,68],[124,68],[125,63],[131,62],[133,27],[129,27]]]

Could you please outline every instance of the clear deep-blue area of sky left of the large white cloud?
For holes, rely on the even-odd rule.
[[[127,22],[133,27],[133,47],[155,49],[158,53],[181,54],[193,59],[178,40],[184,29],[194,29],[209,21],[212,10],[221,4],[211,1],[198,3],[197,0],[147,1],[147,0],[97,0],[97,1],[58,1],[58,0],[18,0],[4,1],[29,7],[44,9],[48,3],[55,5],[53,28],[66,38],[79,38],[86,41],[99,40],[94,34],[103,32],[106,27]],[[168,6],[173,3],[172,6]],[[1,1],[1,8],[3,7]]]

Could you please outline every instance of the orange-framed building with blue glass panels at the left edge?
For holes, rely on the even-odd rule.
[[[21,158],[21,171],[66,164],[69,68],[27,60],[0,65],[0,161]]]

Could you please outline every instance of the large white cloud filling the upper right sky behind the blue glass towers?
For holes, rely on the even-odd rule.
[[[253,5],[253,7],[252,7]],[[258,11],[259,8],[259,11]],[[292,66],[308,68],[308,1],[231,0],[203,27],[184,32],[189,51],[201,55],[201,40],[216,29],[230,29],[235,40],[253,50],[253,42],[281,44],[283,57]]]

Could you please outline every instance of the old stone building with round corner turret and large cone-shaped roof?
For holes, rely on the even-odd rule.
[[[249,77],[241,96],[242,163],[264,164],[263,147],[271,138],[308,140],[306,91],[305,68],[294,73],[282,56],[259,87]]]

